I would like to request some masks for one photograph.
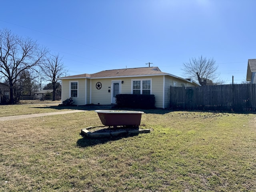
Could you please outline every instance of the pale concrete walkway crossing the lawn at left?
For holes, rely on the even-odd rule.
[[[8,117],[0,117],[0,122],[1,121],[10,121],[10,120],[33,118],[33,117],[58,115],[58,114],[77,113],[77,112],[86,112],[86,110],[68,110],[68,111],[59,111],[59,112],[35,113],[35,114],[27,114],[27,115],[15,115],[15,116],[8,116]]]

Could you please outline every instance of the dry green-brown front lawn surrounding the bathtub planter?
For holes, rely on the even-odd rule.
[[[144,112],[115,139],[79,135],[93,111],[2,122],[0,191],[256,191],[256,114]]]

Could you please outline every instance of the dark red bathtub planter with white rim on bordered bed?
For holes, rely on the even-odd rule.
[[[82,136],[104,138],[150,132],[150,129],[139,128],[141,116],[144,112],[126,110],[96,110],[95,112],[98,113],[102,124],[108,126],[108,128],[105,128],[108,131],[90,132],[89,130],[93,129],[93,127],[88,127],[81,130]]]

